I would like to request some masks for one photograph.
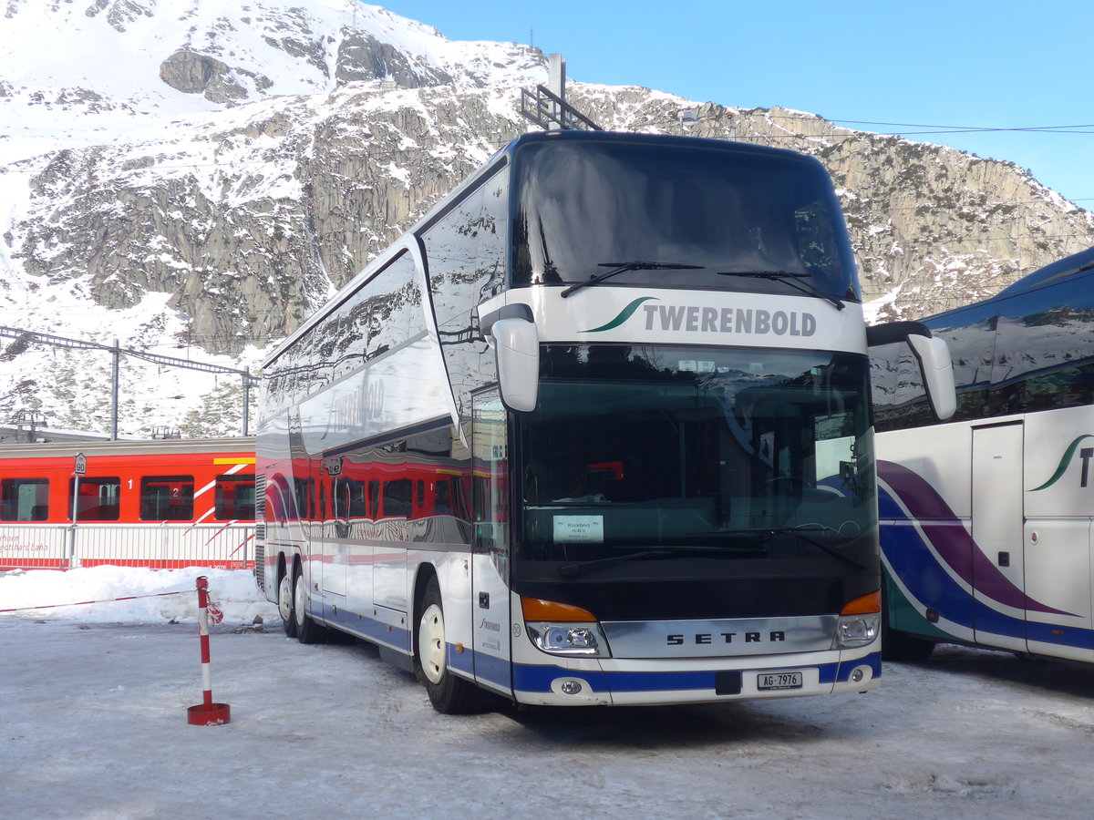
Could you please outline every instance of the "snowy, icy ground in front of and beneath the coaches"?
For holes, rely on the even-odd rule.
[[[199,573],[223,726],[186,719]],[[0,613],[5,819],[1024,820],[1094,799],[1090,667],[942,647],[865,695],[443,717],[373,648],[288,640],[246,572],[0,576],[0,609],[127,595],[156,597]]]

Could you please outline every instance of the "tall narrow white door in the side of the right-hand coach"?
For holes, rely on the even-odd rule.
[[[1026,651],[1023,425],[973,429],[973,626],[986,646]]]

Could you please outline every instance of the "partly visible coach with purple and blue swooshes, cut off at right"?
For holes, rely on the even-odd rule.
[[[923,324],[957,411],[936,423],[909,363],[876,360],[886,654],[1094,661],[1094,248]]]

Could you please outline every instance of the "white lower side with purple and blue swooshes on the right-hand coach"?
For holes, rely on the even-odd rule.
[[[880,434],[878,481],[900,509],[883,524],[913,530],[922,550],[915,571],[901,572],[893,552],[901,539],[883,538],[900,595],[957,641],[1094,661],[1094,454],[1084,456],[1086,446],[1094,447],[1089,408]],[[941,520],[924,517],[916,492],[892,481],[894,464],[913,473],[917,492],[936,493],[946,524],[968,532],[968,566],[979,562],[978,575],[946,561],[931,531]],[[967,596],[967,611],[939,604],[946,596],[927,581],[928,563],[952,585],[951,602]]]

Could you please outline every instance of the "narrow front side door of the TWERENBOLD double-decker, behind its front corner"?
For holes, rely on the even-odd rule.
[[[475,679],[512,691],[509,612],[509,446],[497,390],[475,396],[472,420],[472,631]]]

